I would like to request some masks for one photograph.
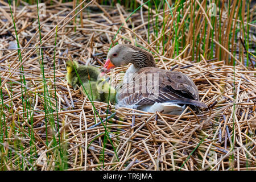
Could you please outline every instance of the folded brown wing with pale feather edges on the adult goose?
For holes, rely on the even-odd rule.
[[[183,73],[146,67],[134,73],[129,80],[118,92],[119,105],[143,106],[155,102],[173,102],[207,107],[199,101],[194,82]]]

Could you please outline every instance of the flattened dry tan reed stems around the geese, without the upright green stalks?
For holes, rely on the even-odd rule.
[[[147,11],[143,13],[144,20],[141,19],[141,13],[133,14],[119,31],[115,42],[129,43],[128,40],[132,39],[131,43],[137,43],[155,53],[159,68],[187,74],[195,81],[200,100],[209,108],[195,113],[187,107],[187,113],[175,116],[127,108],[114,110],[114,105],[109,105],[109,111],[115,114],[108,119],[107,130],[115,151],[109,139],[104,148],[105,130],[100,118],[88,98],[67,84],[65,61],[71,56],[80,63],[102,67],[114,35],[130,13],[122,6],[99,6],[92,3],[89,7],[91,11],[83,14],[83,23],[79,23],[80,18],[77,18],[77,23],[71,18],[74,15],[71,12],[72,3],[47,7],[47,16],[40,19],[43,45],[40,45],[38,24],[34,21],[37,19],[36,7],[15,7],[19,43],[23,48],[30,48],[21,49],[22,62],[18,60],[16,50],[0,51],[3,96],[0,104],[1,170],[256,169],[255,69],[243,64],[237,64],[235,68],[227,64],[226,61],[232,59],[233,55],[229,56],[228,44],[222,46],[219,42],[216,45],[222,46],[220,61],[210,60],[208,55],[204,57],[199,52],[195,54],[196,57],[200,56],[200,61],[191,61],[192,34],[187,36],[187,46],[178,56],[171,53],[175,49],[173,43],[166,44],[165,53],[162,53],[161,46],[156,52],[155,40],[161,39],[161,36],[157,38],[151,32],[151,41],[149,44],[146,42]],[[98,7],[103,13],[96,13]],[[0,10],[0,17],[6,18],[6,22],[0,19],[0,48],[3,49],[9,47],[15,39],[15,33],[9,7],[1,6]],[[71,15],[67,16],[68,13]],[[204,16],[203,12],[200,16]],[[158,16],[159,21],[163,21],[161,17],[163,15]],[[168,25],[172,23],[169,17],[166,19]],[[57,106],[53,80],[56,24],[59,24],[55,59]],[[166,35],[170,31],[169,27],[171,25],[166,26]],[[38,49],[31,48],[35,45],[45,47],[44,77],[51,96],[51,112],[46,112],[44,108],[46,101],[41,56]],[[228,50],[225,51],[225,48]],[[216,57],[219,58],[219,54],[216,52]],[[239,56],[243,56],[243,51]],[[19,71],[21,65],[23,72]],[[123,74],[128,67],[115,69],[112,76]],[[21,93],[24,85],[20,83],[20,75],[26,80],[25,96]],[[117,84],[117,80],[112,80],[114,85]],[[22,106],[22,96],[30,102],[30,107]],[[105,123],[108,104],[94,102],[94,106]],[[50,123],[51,118],[55,124]]]

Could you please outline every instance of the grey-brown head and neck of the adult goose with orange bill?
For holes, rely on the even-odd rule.
[[[129,44],[118,44],[110,49],[106,63],[105,72],[115,67],[132,63],[137,69],[144,67],[156,67],[154,57],[150,52]]]

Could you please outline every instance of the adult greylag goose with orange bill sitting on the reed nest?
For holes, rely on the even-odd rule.
[[[131,63],[117,92],[117,105],[154,113],[181,114],[185,105],[207,107],[199,101],[195,83],[180,72],[156,67],[154,57],[144,49],[118,44],[110,49],[105,72]]]

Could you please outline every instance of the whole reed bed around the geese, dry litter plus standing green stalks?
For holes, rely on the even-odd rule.
[[[18,2],[11,12],[0,1],[1,170],[256,169],[255,6],[220,4],[214,20],[206,1],[150,2],[133,14],[119,4],[63,2],[47,5],[39,24],[37,6]],[[67,84],[65,61],[102,68],[115,43],[187,74],[208,108],[116,110]],[[128,67],[108,73],[113,85]]]

